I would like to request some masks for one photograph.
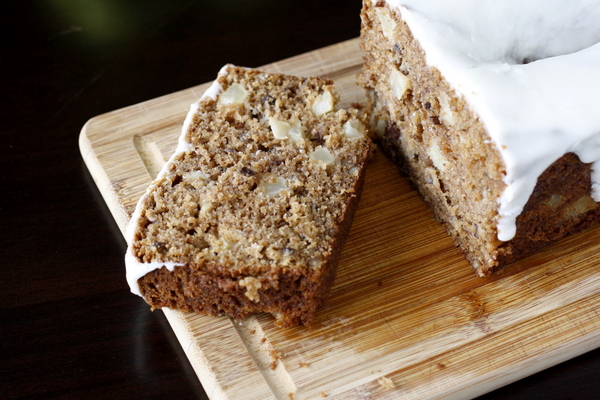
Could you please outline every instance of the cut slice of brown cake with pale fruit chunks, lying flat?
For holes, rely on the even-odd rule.
[[[127,277],[154,308],[309,324],[327,299],[370,140],[333,82],[227,65],[128,229]]]

